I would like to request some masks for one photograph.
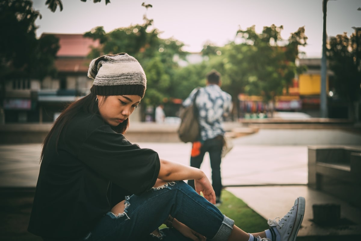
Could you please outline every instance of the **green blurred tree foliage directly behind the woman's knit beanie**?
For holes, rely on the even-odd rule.
[[[152,22],[144,16],[142,25],[122,27],[109,33],[103,27],[95,27],[84,34],[101,43],[101,47],[92,49],[90,58],[124,52],[140,62],[147,75],[147,94],[142,101],[147,105],[156,105],[174,94],[172,79],[178,67],[177,60],[184,59],[187,54],[182,51],[182,42],[159,38],[160,32],[151,29]]]

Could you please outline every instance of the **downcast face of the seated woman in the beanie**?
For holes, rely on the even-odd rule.
[[[125,121],[141,100],[138,95],[97,95],[97,97],[99,113],[110,126],[118,126]]]

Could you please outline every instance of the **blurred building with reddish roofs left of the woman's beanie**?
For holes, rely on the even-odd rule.
[[[45,35],[43,34],[40,38]],[[59,39],[55,67],[57,75],[43,80],[12,80],[5,86],[5,122],[53,122],[71,102],[89,93],[87,77],[91,47],[99,41],[82,34],[51,34]]]

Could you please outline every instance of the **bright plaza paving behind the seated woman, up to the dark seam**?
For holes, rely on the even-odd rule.
[[[189,165],[191,151],[189,143],[138,144],[142,148],[156,150],[163,159]],[[0,145],[0,187],[35,187],[39,174],[40,152],[41,144]],[[236,145],[223,158],[221,168],[225,186],[305,185],[307,147]],[[208,154],[205,155],[201,169],[211,178]],[[292,179],[275,178],[284,174],[285,170],[291,171]]]

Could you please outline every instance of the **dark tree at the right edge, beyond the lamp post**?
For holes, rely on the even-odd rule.
[[[329,67],[334,72],[335,94],[348,104],[349,119],[357,121],[361,97],[361,31],[355,29],[330,38],[327,48]]]

